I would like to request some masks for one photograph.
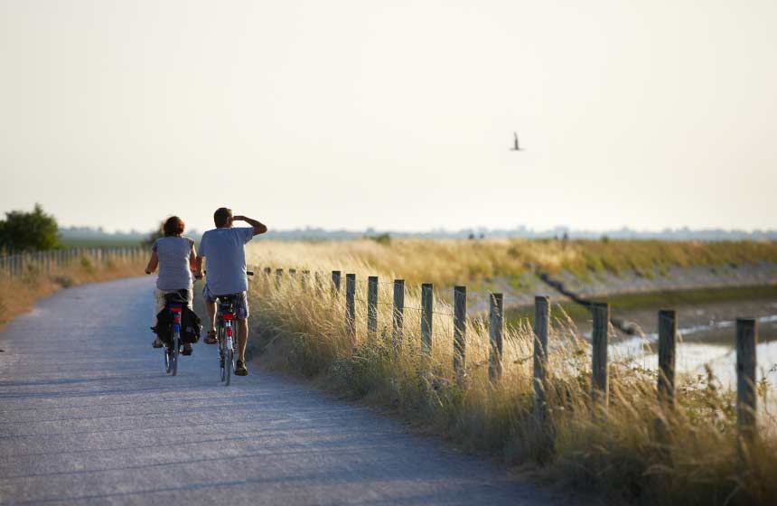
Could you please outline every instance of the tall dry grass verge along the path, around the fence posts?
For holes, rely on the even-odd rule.
[[[323,280],[315,286],[312,274],[305,291],[298,279],[286,277],[278,287],[273,276],[252,280],[252,318],[264,361],[316,378],[351,398],[395,408],[468,450],[500,454],[510,463],[543,464],[555,479],[597,492],[606,501],[770,504],[777,498],[777,419],[767,411],[760,414],[758,443],[745,455],[741,469],[734,397],[711,375],[680,377],[678,408],[669,415],[657,403],[655,373],[628,360],[613,363],[610,406],[604,415],[590,398],[589,345],[555,308],[548,357],[553,423],[538,424],[532,416],[533,334],[526,323],[506,329],[503,376],[492,383],[488,328],[482,320],[471,319],[466,374],[459,381],[452,366],[453,311],[444,297],[435,295],[430,360],[420,351],[420,294],[412,283],[407,286],[400,345],[394,347],[391,341],[388,283],[379,286],[379,331],[369,338],[366,278],[378,275],[388,281],[395,272],[365,259],[363,251],[374,254],[378,247],[362,242],[358,255],[341,256],[348,248],[347,243],[293,245],[287,250],[293,255],[282,258],[276,250],[263,258],[262,267],[295,267],[298,276],[303,269],[320,271]],[[338,254],[328,257],[332,251]],[[395,259],[382,261],[382,266],[397,265]],[[329,286],[332,267],[345,266],[358,279],[357,332],[352,339],[345,326],[344,288],[342,295],[332,297]],[[760,390],[763,398],[773,400],[771,386],[761,385]],[[658,418],[669,427],[669,443],[658,436]]]

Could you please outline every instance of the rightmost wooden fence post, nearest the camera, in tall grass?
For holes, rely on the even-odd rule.
[[[736,319],[736,429],[740,465],[748,462],[756,432],[755,347],[758,323],[752,318]]]

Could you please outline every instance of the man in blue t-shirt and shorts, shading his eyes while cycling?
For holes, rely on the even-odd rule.
[[[235,316],[238,320],[238,361],[235,374],[248,375],[246,344],[248,342],[248,278],[246,276],[246,243],[267,232],[267,227],[245,216],[232,216],[232,210],[221,207],[213,213],[216,228],[202,234],[196,261],[196,276],[202,276],[202,259],[208,258],[208,279],[202,288],[208,311],[208,335],[205,342],[216,344],[216,299],[237,295]],[[232,227],[234,221],[246,221],[250,227]]]

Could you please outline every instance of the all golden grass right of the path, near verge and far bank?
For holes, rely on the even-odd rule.
[[[645,252],[651,251],[652,257]],[[636,258],[625,259],[631,253]],[[552,379],[548,426],[531,415],[533,336],[525,323],[505,333],[504,373],[488,379],[488,329],[473,319],[467,329],[466,380],[454,379],[451,307],[435,301],[430,361],[419,352],[420,306],[417,282],[438,286],[518,275],[531,262],[553,268],[644,269],[671,265],[774,261],[773,243],[637,243],[529,241],[401,241],[380,245],[351,243],[264,243],[252,250],[251,263],[320,271],[355,272],[357,333],[347,337],[343,297],[329,286],[303,292],[297,283],[275,288],[262,276],[252,281],[254,323],[265,347],[264,361],[318,379],[327,389],[351,398],[395,408],[458,445],[501,454],[510,463],[539,462],[548,473],[600,492],[607,501],[651,504],[770,503],[777,497],[777,419],[763,414],[759,444],[747,454],[747,473],[737,469],[735,409],[731,392],[715,378],[679,378],[678,409],[670,416],[656,401],[655,375],[632,363],[613,363],[610,408],[598,413],[590,400],[590,350],[574,324],[555,317],[548,357]],[[343,272],[343,274],[344,274]],[[406,327],[398,351],[390,346],[391,286],[379,290],[379,333],[366,335],[366,276],[407,279]],[[558,312],[556,313],[558,314]],[[763,397],[774,389],[761,385]],[[656,417],[665,417],[671,441],[661,445]]]

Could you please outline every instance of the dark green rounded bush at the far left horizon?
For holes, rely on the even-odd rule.
[[[10,211],[0,220],[0,251],[16,252],[60,247],[57,220],[35,204],[33,212]]]

